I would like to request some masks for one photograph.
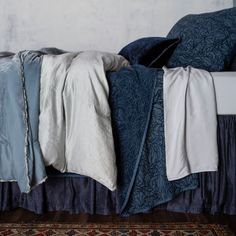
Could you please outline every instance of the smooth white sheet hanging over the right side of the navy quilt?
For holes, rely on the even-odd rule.
[[[192,67],[163,69],[168,180],[217,171],[217,111],[211,74]]]

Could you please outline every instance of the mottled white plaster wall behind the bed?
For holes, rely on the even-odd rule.
[[[189,13],[234,0],[0,0],[0,51],[54,46],[118,51],[144,36],[165,36]]]

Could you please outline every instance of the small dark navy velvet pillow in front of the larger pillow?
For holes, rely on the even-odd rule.
[[[125,57],[131,65],[141,64],[161,68],[166,64],[178,43],[178,38],[141,38],[122,48],[119,55]]]

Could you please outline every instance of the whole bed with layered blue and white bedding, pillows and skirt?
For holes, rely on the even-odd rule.
[[[236,214],[236,8],[118,54],[0,53],[0,210]]]

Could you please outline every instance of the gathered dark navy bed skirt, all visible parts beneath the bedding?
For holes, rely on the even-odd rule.
[[[170,211],[236,214],[236,116],[218,116],[219,171],[199,174],[200,186],[162,205]],[[0,210],[22,207],[36,213],[119,213],[117,192],[81,176],[58,177],[31,193],[20,193],[16,183],[0,183]]]

